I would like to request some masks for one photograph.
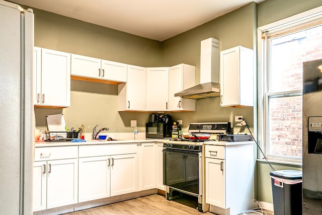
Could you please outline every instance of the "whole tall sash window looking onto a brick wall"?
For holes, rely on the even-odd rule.
[[[302,63],[322,58],[322,18],[288,19],[259,34],[259,140],[268,159],[301,162]]]

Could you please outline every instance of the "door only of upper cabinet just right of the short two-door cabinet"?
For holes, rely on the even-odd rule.
[[[126,83],[128,110],[146,110],[146,69],[128,65]]]

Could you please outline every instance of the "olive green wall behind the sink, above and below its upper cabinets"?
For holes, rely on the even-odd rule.
[[[162,65],[159,41],[33,10],[35,46],[146,67]],[[71,80],[70,86],[69,108],[35,109],[37,128],[47,129],[46,115],[63,113],[69,128],[84,123],[86,132],[92,132],[97,124],[109,127],[109,132],[132,132],[130,120],[137,120],[139,132],[145,132],[148,113],[117,111],[117,85]]]

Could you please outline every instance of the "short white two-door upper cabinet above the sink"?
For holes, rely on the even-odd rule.
[[[84,81],[119,84],[126,82],[125,63],[71,54],[71,78]]]

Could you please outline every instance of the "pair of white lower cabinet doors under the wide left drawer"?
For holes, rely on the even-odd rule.
[[[77,159],[34,162],[33,211],[77,203]]]

